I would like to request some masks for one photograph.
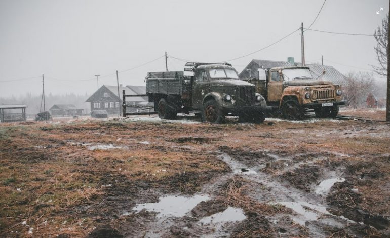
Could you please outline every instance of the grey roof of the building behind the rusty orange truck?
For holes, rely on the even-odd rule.
[[[272,61],[272,60],[256,60],[253,59],[240,73],[241,79],[249,79],[249,72],[251,77],[259,78],[259,68],[274,68],[274,67],[289,67],[289,66],[301,66],[301,63],[295,63],[291,65],[287,61]],[[343,84],[345,82],[345,76],[337,69],[329,65],[318,64],[306,64],[306,67],[310,68],[314,78],[320,77],[322,80],[328,80],[335,84]],[[325,70],[325,74],[322,72]],[[322,75],[322,76],[321,76]]]

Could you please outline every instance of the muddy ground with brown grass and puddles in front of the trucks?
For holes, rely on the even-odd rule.
[[[373,121],[2,124],[0,236],[388,237],[389,145]]]

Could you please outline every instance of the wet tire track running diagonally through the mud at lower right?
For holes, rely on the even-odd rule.
[[[268,163],[277,162],[277,161],[287,161],[293,163],[292,158],[297,156],[304,156],[307,154],[298,154],[283,158],[277,155],[272,155],[267,153],[269,157],[272,158]],[[262,172],[266,169],[266,165],[260,164],[248,169],[248,166],[240,163],[239,160],[222,153],[220,155],[221,160],[226,162],[232,173],[229,175],[223,176],[221,179],[227,180],[235,175],[240,175],[241,177],[261,184],[262,188],[255,186],[255,191],[250,195],[253,199],[257,200],[260,203],[271,204],[272,206],[283,205],[287,208],[290,208],[293,211],[293,214],[288,214],[288,216],[301,226],[304,226],[308,229],[309,236],[319,235],[326,236],[329,233],[324,232],[324,227],[334,227],[335,229],[343,228],[350,224],[355,224],[356,222],[349,220],[343,216],[336,216],[327,211],[326,201],[324,196],[302,192],[301,190],[287,185],[286,183],[278,181],[275,177]],[[292,171],[294,169],[300,168],[303,165],[313,164],[315,161],[325,160],[326,157],[320,157],[315,160],[301,161],[298,163],[293,163],[289,169],[283,169],[285,172]],[[330,175],[331,173],[329,173]],[[328,176],[329,176],[328,175]],[[334,177],[335,173],[333,173]],[[213,185],[221,184],[221,181],[217,181]],[[265,189],[264,189],[265,187]],[[210,189],[209,187],[205,190],[215,191],[216,189]],[[279,220],[283,218],[280,214],[267,216],[267,219],[272,221],[274,224],[277,224]],[[279,229],[281,230],[281,229]],[[283,233],[280,232],[280,235],[283,236]]]

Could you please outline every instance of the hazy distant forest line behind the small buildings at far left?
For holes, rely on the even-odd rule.
[[[76,95],[74,93],[67,93],[64,95],[52,95],[51,93],[45,95],[45,108],[48,111],[54,104],[73,104],[77,109],[84,109],[85,113],[90,113],[90,103],[85,102],[91,95]],[[0,97],[0,105],[4,104],[24,104],[27,107],[26,114],[28,116],[35,115],[40,112],[41,109],[41,95],[31,95],[28,93],[19,97]],[[42,102],[42,111],[44,105]]]

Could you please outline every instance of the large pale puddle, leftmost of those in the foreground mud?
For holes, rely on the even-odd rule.
[[[133,208],[134,211],[143,209],[150,212],[158,212],[157,217],[182,217],[191,211],[198,203],[209,200],[208,196],[195,195],[192,197],[184,196],[164,196],[160,197],[157,203],[138,204]],[[124,214],[126,215],[126,214]]]

